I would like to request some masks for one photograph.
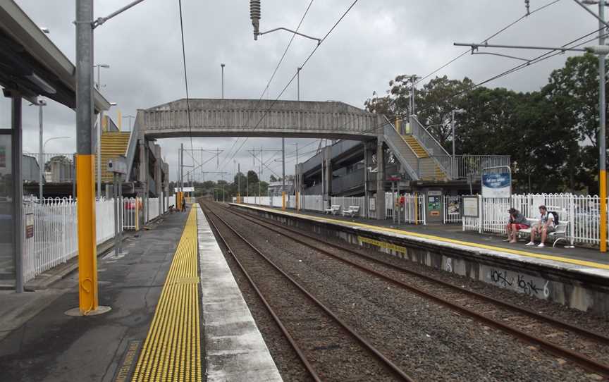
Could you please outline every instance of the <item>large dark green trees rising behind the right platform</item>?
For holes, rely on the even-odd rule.
[[[605,68],[605,70],[607,70]],[[539,92],[473,87],[469,78],[434,78],[415,93],[416,114],[438,142],[456,152],[510,155],[517,192],[598,192],[598,58],[567,58]],[[409,115],[410,82],[398,75],[367,110],[393,121]]]

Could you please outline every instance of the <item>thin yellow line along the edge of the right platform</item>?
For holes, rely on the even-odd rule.
[[[371,228],[372,230],[376,230],[376,231],[380,231],[380,232],[398,233],[398,234],[404,235],[404,236],[412,236],[412,237],[415,237],[415,238],[424,238],[424,239],[429,239],[429,240],[436,240],[436,241],[439,241],[439,242],[446,242],[446,243],[450,243],[450,244],[466,245],[467,247],[476,247],[476,248],[481,248],[481,249],[490,249],[492,251],[497,251],[497,252],[504,252],[504,253],[509,253],[509,254],[518,254],[518,255],[524,256],[524,257],[535,257],[537,259],[560,261],[562,263],[576,264],[576,265],[581,265],[581,266],[589,266],[591,268],[596,268],[596,269],[609,269],[609,264],[601,264],[601,263],[596,263],[594,261],[570,259],[568,257],[552,256],[552,255],[549,255],[549,254],[538,254],[538,253],[533,253],[533,252],[521,251],[519,249],[509,249],[509,248],[503,248],[503,247],[494,247],[493,245],[479,244],[477,242],[466,242],[466,241],[462,241],[462,240],[442,238],[441,236],[427,235],[425,233],[417,233],[417,232],[411,232],[411,231],[407,231],[407,230],[398,230],[398,229],[395,229],[395,228],[386,228],[386,227],[380,227],[380,226],[371,226],[369,224],[356,223],[356,222],[353,222],[353,221],[342,221],[342,220],[336,220],[336,219],[331,219],[331,218],[322,218],[322,217],[318,217],[318,216],[310,216],[310,215],[305,215],[305,214],[294,214],[293,212],[277,211],[275,209],[267,209],[267,208],[264,208],[264,207],[253,207],[253,206],[246,206],[246,207],[247,208],[251,208],[251,209],[259,209],[261,211],[271,211],[271,212],[276,213],[276,214],[285,214],[285,215],[291,215],[291,216],[298,216],[298,217],[301,217],[301,218],[302,217],[309,218],[310,220],[316,220],[316,221],[321,221],[321,222],[336,223],[336,224],[338,224],[340,226],[357,226],[357,227],[362,227],[362,228]]]

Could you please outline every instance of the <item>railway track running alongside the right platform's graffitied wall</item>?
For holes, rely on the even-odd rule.
[[[221,208],[328,257],[398,285],[400,288],[415,292],[417,295],[449,307],[459,314],[498,328],[520,340],[539,346],[550,354],[568,359],[586,370],[609,378],[609,364],[607,363],[609,337],[601,333],[460,288],[424,273],[397,266],[384,259],[371,257],[369,254],[321,240],[319,236],[302,233],[251,214],[235,211],[235,209]],[[433,292],[430,292],[431,290]],[[598,361],[593,357],[601,357],[603,361]]]

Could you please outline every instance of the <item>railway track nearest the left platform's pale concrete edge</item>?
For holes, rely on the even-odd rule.
[[[202,207],[228,253],[314,381],[414,381],[230,223],[204,204]],[[235,241],[249,250],[237,249]]]

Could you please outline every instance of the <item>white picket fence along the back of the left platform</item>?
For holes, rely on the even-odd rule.
[[[172,197],[170,197],[171,200]],[[173,197],[175,200],[175,197]],[[174,203],[175,204],[175,203]],[[124,198],[121,230],[139,228],[141,199]],[[171,204],[169,204],[171,205]],[[149,218],[159,216],[159,199],[149,199]],[[72,198],[44,199],[43,203],[30,202],[23,207],[23,221],[33,221],[34,235],[23,235],[23,278],[32,280],[44,271],[65,263],[78,254],[77,203]],[[97,244],[114,237],[114,200],[95,202],[95,230]],[[25,231],[25,230],[24,230]]]

